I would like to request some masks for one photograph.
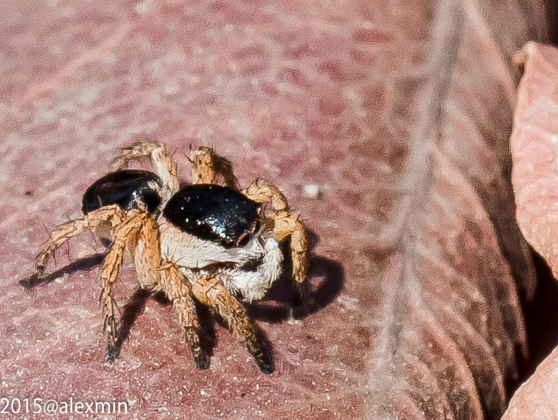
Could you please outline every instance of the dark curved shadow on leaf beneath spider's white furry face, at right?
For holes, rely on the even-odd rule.
[[[295,318],[306,318],[320,311],[339,295],[345,283],[345,273],[339,261],[324,256],[312,254],[312,250],[319,242],[319,237],[312,231],[309,236],[309,287],[300,307],[296,309]],[[283,244],[283,273],[271,286],[265,300],[252,302],[247,306],[247,312],[251,318],[275,324],[284,322],[291,318],[293,310],[293,298],[295,297],[295,284],[292,276],[293,265],[291,252],[287,244]],[[321,278],[316,283],[315,279]],[[311,281],[313,280],[313,281]]]

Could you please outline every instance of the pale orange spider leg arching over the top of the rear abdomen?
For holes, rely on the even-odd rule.
[[[166,144],[149,140],[146,142],[135,142],[130,146],[120,149],[120,155],[113,160],[113,170],[127,168],[131,159],[150,157],[153,169],[163,182],[162,198],[168,201],[180,188],[177,175],[177,164],[172,159],[172,154]]]

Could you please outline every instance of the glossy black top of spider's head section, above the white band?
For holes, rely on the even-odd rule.
[[[183,232],[225,247],[256,226],[258,203],[230,187],[188,185],[168,201],[163,215]]]

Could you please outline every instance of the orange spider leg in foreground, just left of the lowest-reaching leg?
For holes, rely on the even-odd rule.
[[[196,366],[200,369],[207,369],[210,360],[200,345],[199,324],[190,281],[179,272],[178,267],[171,261],[161,264],[159,276],[160,285],[172,302],[172,307],[175,308],[178,322],[186,330],[186,341],[190,344]]]

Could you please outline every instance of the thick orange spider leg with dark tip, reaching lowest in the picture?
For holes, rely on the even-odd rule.
[[[273,359],[258,338],[256,326],[248,318],[238,300],[219,280],[211,276],[201,277],[192,285],[192,292],[199,302],[213,307],[219,313],[238,341],[244,343],[248,351],[254,355],[260,371],[263,373],[274,371]]]

